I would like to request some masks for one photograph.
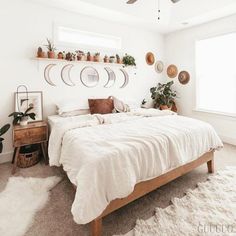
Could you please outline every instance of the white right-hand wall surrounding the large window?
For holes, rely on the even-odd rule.
[[[194,111],[196,91],[195,41],[232,31],[236,31],[236,15],[168,34],[165,36],[165,54],[168,64],[174,63],[178,65],[180,70],[187,70],[191,74],[189,84],[183,86],[178,82],[175,83],[180,97],[178,99],[180,114],[209,122],[215,127],[223,141],[236,145],[236,118]],[[214,89],[214,85],[209,89]]]

